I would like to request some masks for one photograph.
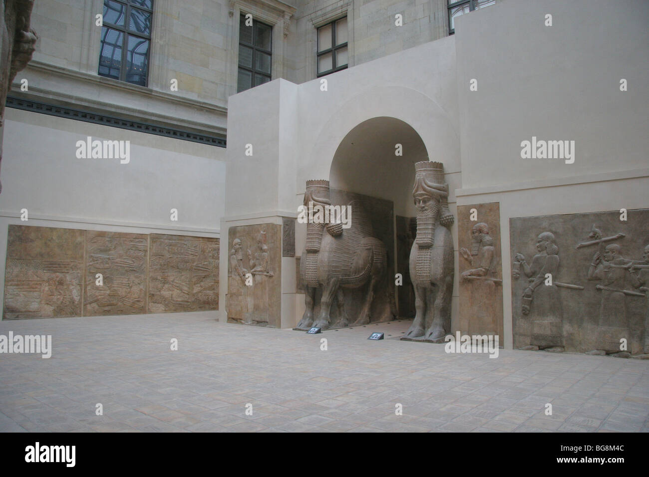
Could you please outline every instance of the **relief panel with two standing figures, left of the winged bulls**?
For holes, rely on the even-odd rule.
[[[231,227],[228,233],[228,321],[281,324],[281,234],[272,223]]]

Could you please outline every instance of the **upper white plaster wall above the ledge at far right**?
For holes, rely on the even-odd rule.
[[[463,187],[645,167],[648,25],[646,0],[504,0],[461,16]],[[520,158],[520,142],[532,136],[574,140],[574,164]]]

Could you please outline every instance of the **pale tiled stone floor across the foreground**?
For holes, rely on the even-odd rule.
[[[404,322],[308,335],[214,316],[0,321],[53,341],[49,359],[0,354],[0,431],[649,431],[647,360],[493,359],[400,341]]]

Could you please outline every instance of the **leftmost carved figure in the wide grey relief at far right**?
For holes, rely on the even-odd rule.
[[[554,234],[543,232],[536,241],[539,252],[527,263],[523,254],[517,253],[515,261],[522,265],[529,284],[523,292],[522,313],[531,322],[530,346],[524,349],[563,349],[563,313],[561,299],[554,278],[559,269],[559,247]],[[520,267],[519,265],[519,267]],[[552,284],[546,284],[546,274],[552,276]],[[517,267],[514,269],[517,276]]]

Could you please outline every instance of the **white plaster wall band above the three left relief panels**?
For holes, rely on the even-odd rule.
[[[78,159],[76,143],[87,136],[129,140],[129,164]],[[7,108],[0,210],[214,232],[225,204],[224,159],[221,147]]]

